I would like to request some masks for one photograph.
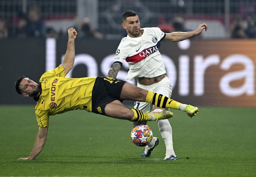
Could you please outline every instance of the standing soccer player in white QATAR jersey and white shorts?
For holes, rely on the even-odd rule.
[[[171,83],[165,75],[165,65],[159,52],[160,41],[183,41],[200,35],[204,29],[207,30],[207,25],[200,24],[196,31],[164,33],[159,28],[140,28],[139,16],[132,10],[124,12],[122,20],[122,26],[127,31],[127,35],[121,39],[115,54],[113,67],[109,70],[107,76],[116,78],[125,60],[129,65],[127,79],[137,78],[138,87],[170,97],[172,94]],[[141,111],[154,110],[155,112],[164,110],[145,102],[135,102],[134,108]],[[187,104],[180,104],[177,109],[193,112],[193,115],[198,112],[197,107]],[[134,122],[133,126],[146,123],[147,121]],[[173,150],[172,129],[169,121],[159,120],[157,124],[166,146],[163,160],[176,160],[177,156]],[[158,143],[159,139],[154,137],[143,150],[141,157],[149,157]]]

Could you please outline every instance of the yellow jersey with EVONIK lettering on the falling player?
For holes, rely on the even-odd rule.
[[[41,76],[42,92],[36,99],[35,108],[39,128],[48,127],[51,115],[82,109],[92,112],[92,91],[96,77],[65,76],[61,65]]]

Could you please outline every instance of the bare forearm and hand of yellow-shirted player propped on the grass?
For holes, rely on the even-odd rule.
[[[47,131],[48,131],[47,127],[40,128],[38,130],[34,148],[32,149],[30,155],[28,157],[19,158],[18,160],[32,160],[32,159],[36,158],[36,156],[42,151],[42,148],[44,147],[44,144],[45,144],[46,138],[47,138]]]

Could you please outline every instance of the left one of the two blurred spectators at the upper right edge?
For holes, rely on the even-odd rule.
[[[231,38],[247,38],[244,22],[240,16],[236,17],[231,27]]]

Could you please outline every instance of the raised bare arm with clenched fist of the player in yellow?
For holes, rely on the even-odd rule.
[[[77,37],[76,29],[69,28],[68,35],[69,41],[67,44],[67,51],[61,64],[66,74],[69,73],[69,71],[73,68],[75,62],[75,39]]]

